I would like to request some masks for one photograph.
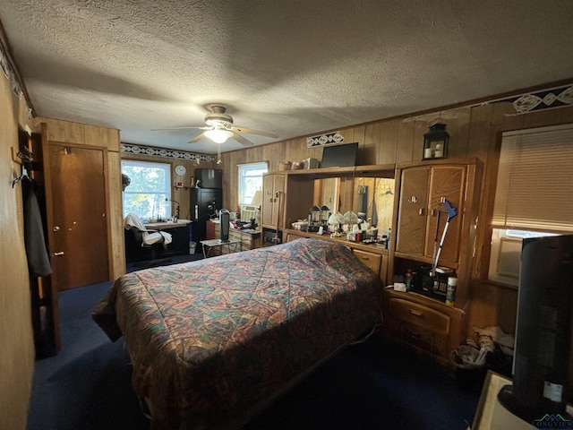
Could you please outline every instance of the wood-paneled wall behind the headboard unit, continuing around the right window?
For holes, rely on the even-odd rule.
[[[573,107],[561,107],[537,113],[514,116],[509,103],[483,104],[436,111],[416,118],[393,118],[340,128],[344,142],[358,142],[357,164],[394,164],[422,159],[423,133],[429,121],[438,117],[447,124],[450,134],[449,159],[477,157],[483,162],[480,193],[480,215],[473,264],[474,300],[467,309],[467,328],[500,325],[505,331],[515,330],[517,290],[480,281],[489,258],[491,202],[499,159],[501,132],[547,125],[573,123]],[[426,121],[428,118],[429,121]],[[317,131],[312,135],[328,133]],[[269,143],[221,155],[224,170],[224,205],[238,202],[237,164],[268,161],[271,171],[278,170],[283,160],[321,159],[322,148],[307,148],[306,136]]]

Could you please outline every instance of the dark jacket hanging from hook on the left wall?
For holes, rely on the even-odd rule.
[[[24,201],[24,244],[28,258],[30,276],[47,276],[52,273],[47,254],[44,225],[36,197],[35,184],[31,180],[22,181]]]

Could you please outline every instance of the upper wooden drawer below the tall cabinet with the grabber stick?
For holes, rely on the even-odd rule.
[[[449,334],[449,316],[429,307],[392,297],[389,299],[391,316],[439,334]]]

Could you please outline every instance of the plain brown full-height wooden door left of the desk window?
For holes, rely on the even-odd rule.
[[[105,282],[107,150],[48,142],[44,154],[52,282],[60,291]]]

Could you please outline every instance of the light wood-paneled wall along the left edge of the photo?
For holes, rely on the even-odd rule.
[[[10,429],[26,428],[35,355],[21,184],[12,186],[21,174],[12,148],[24,125],[31,127],[28,107],[0,74],[0,428]]]

